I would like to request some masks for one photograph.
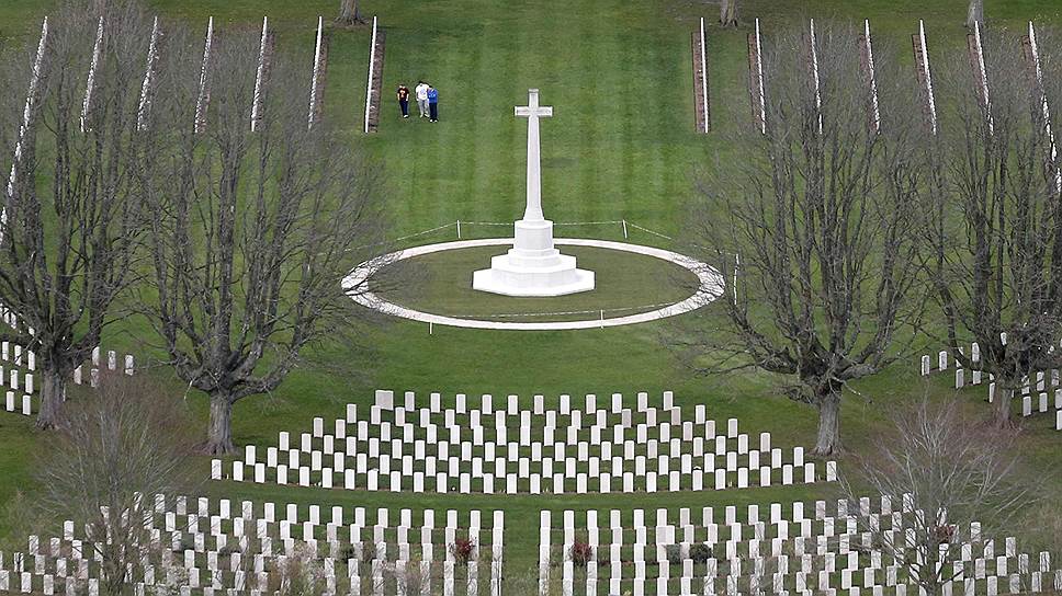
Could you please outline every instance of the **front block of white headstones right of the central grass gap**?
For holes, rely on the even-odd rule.
[[[641,509],[633,512],[633,519],[624,519],[619,511],[607,516],[565,511],[560,528],[551,512],[542,512],[540,592],[564,596],[918,594],[897,553],[881,546],[910,540],[905,524],[910,528],[917,512],[893,509],[888,498],[877,511],[869,498],[849,505],[839,501],[832,515],[823,501],[813,512],[793,503],[789,518],[778,503],[765,516],[757,505],[749,505],[747,512],[680,509],[678,519],[657,509],[655,519],[648,520]],[[952,547],[956,555],[946,563],[948,571],[941,572],[949,580],[944,594],[1062,591],[1062,570],[1052,566],[1050,553],[1030,557],[1018,552],[1014,538],[996,542],[981,538],[979,525],[972,530],[978,538]],[[908,548],[913,550],[913,545]]]

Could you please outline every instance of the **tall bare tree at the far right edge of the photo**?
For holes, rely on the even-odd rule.
[[[935,152],[946,163],[927,200],[931,277],[952,354],[994,376],[994,417],[1008,425],[1027,377],[1062,366],[1060,163],[1044,103],[1062,105],[1062,89],[1046,53],[1041,87],[1035,72],[1014,68],[1018,39],[985,45],[986,79],[980,60],[974,77],[957,65],[945,69],[950,80],[941,78],[954,91],[958,117]],[[967,341],[979,344],[979,362],[962,348]]]

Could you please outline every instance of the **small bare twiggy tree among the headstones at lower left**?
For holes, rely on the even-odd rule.
[[[43,451],[37,506],[84,528],[104,594],[123,594],[129,569],[162,548],[151,540],[152,498],[188,486],[188,420],[183,400],[146,375],[109,374],[68,404]]]

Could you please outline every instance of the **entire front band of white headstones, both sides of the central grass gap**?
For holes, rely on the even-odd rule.
[[[152,506],[154,505],[154,506]],[[145,518],[150,542],[129,578],[135,593],[168,585],[182,593],[222,591],[267,594],[278,589],[285,565],[304,557],[319,565],[323,593],[477,595],[501,593],[505,514],[478,511],[330,511],[320,506],[157,495]],[[539,581],[542,594],[915,594],[904,564],[882,545],[913,546],[915,516],[905,498],[894,504],[825,501],[812,511],[795,502],[747,509],[681,508],[678,518],[656,509],[632,518],[610,511],[540,512]],[[330,519],[324,515],[328,513]],[[603,515],[603,514],[602,514]],[[489,526],[484,526],[489,522]],[[871,530],[880,534],[872,538]],[[946,594],[1062,589],[1051,554],[1030,557],[1014,538],[993,540],[971,527],[969,542],[952,546]],[[486,541],[481,541],[488,540]],[[466,557],[459,546],[470,545]],[[99,545],[88,528],[64,524],[61,537],[31,536],[25,552],[0,553],[0,591],[44,594],[99,593]],[[486,572],[489,568],[489,574]],[[557,571],[557,568],[560,570]],[[289,570],[291,568],[287,568]],[[481,570],[483,570],[481,572]],[[481,585],[484,583],[485,585]],[[560,583],[560,586],[556,584]],[[434,586],[434,587],[433,587]]]

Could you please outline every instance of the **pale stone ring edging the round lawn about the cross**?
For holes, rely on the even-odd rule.
[[[693,275],[697,276],[700,285],[697,291],[681,300],[675,302],[674,305],[666,306],[649,312],[642,312],[639,314],[629,314],[625,317],[615,317],[611,319],[585,319],[580,321],[551,321],[551,322],[507,322],[507,321],[483,321],[478,319],[459,319],[456,317],[445,317],[442,314],[432,314],[430,312],[422,312],[419,310],[414,310],[403,306],[398,306],[394,302],[387,301],[373,293],[364,293],[352,296],[351,298],[373,310],[377,310],[385,314],[391,314],[393,317],[400,317],[403,319],[409,319],[413,321],[421,321],[425,323],[432,323],[437,325],[448,325],[448,326],[460,326],[466,329],[494,329],[494,330],[510,330],[510,331],[561,331],[561,330],[575,330],[575,329],[601,329],[606,326],[621,326],[630,325],[635,323],[644,323],[648,321],[657,321],[660,319],[666,319],[668,317],[675,317],[677,314],[682,314],[685,312],[690,312],[697,310],[702,306],[715,300],[723,294],[723,277],[720,275],[711,265],[686,256],[685,254],[679,254],[677,252],[667,251],[664,249],[656,249],[653,247],[643,247],[641,244],[629,244],[626,242],[612,242],[609,240],[594,240],[588,238],[558,238],[554,241],[555,244],[562,247],[591,247],[597,249],[607,249],[620,252],[630,252],[635,254],[644,254],[646,256],[653,256],[674,263]],[[405,259],[413,259],[415,256],[421,256],[425,254],[431,254],[436,252],[453,251],[460,249],[473,249],[478,247],[501,247],[501,245],[512,245],[511,238],[486,238],[479,240],[457,240],[454,242],[441,242],[438,244],[425,244],[422,247],[414,247],[411,249],[405,249],[382,256],[377,256],[371,261],[366,261],[354,267],[343,279],[343,287],[351,288],[357,287],[365,282],[365,279],[372,275],[381,263],[395,263]]]

